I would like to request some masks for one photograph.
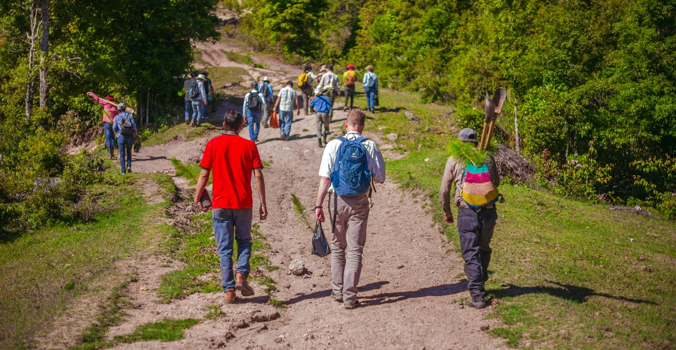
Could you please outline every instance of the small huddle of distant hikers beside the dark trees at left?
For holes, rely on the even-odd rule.
[[[209,119],[208,107],[216,112],[214,84],[209,79],[208,71],[199,74],[193,71],[190,77],[183,82],[183,96],[185,98],[186,125],[199,126],[201,119]],[[190,109],[193,113],[190,113]],[[191,117],[192,116],[192,117]]]

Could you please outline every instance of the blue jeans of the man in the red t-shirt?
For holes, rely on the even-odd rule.
[[[235,289],[233,275],[233,241],[237,240],[237,272],[249,276],[249,258],[251,258],[251,208],[218,209],[212,212],[212,223],[220,270],[223,276],[223,291]],[[234,240],[233,240],[234,236]]]

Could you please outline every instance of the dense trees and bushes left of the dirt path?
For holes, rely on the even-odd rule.
[[[62,152],[68,137],[101,122],[101,107],[87,91],[150,107],[146,114],[160,111],[179,98],[193,41],[218,36],[218,19],[210,13],[215,4],[52,1],[49,49],[41,63],[41,2],[0,1],[0,230],[69,216],[64,208],[82,200],[83,186],[95,182],[92,171],[101,168]],[[32,66],[31,32],[37,33]],[[38,103],[40,67],[49,83],[45,106]]]

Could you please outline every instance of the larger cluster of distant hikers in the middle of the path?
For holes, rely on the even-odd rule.
[[[354,108],[354,90],[358,81],[356,67],[347,65],[342,82],[333,72],[333,65],[322,65],[319,74],[314,74],[312,65],[304,65],[302,68],[303,73],[298,76],[297,82],[297,87],[301,90],[302,105],[305,115],[312,111],[315,112],[318,144],[320,147],[325,146],[329,134],[329,123],[333,119],[335,99],[341,94],[341,85],[345,87],[343,110],[350,111]],[[317,82],[317,86],[314,86],[314,82]],[[366,92],[366,109],[374,113],[379,84],[378,76],[373,73],[372,65],[366,67],[362,84]],[[270,116],[273,113],[276,113],[279,118],[279,138],[289,140],[293,110],[297,109],[297,115],[299,115],[301,109],[301,102],[293,85],[293,81],[287,81],[285,87],[279,90],[275,100],[268,77],[264,77],[260,84],[251,83],[251,90],[244,96],[242,115],[245,117],[245,124],[249,126],[249,138],[252,141],[258,142],[261,125],[270,127]]]

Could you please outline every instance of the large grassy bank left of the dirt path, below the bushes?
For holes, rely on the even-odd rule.
[[[99,185],[95,221],[24,232],[0,243],[0,348],[20,347],[51,324],[74,298],[107,276],[113,262],[143,249],[162,227],[166,202],[147,205],[136,179]]]

